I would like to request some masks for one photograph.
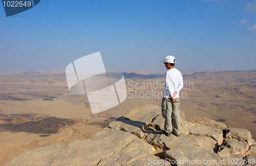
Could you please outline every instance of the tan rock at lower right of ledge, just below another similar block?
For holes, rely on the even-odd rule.
[[[240,154],[245,156],[248,149],[249,146],[247,143],[236,140],[226,140],[219,148],[218,154],[220,156],[230,156],[231,154]]]

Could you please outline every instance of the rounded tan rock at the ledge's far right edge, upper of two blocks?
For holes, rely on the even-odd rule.
[[[228,127],[225,129],[225,136],[230,140],[238,140],[240,142],[247,142],[251,146],[254,142],[251,138],[251,133],[248,130],[242,128]]]

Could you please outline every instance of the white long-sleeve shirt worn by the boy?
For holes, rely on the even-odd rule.
[[[163,89],[164,98],[170,98],[177,91],[175,98],[179,98],[179,92],[183,87],[183,77],[179,70],[176,68],[169,69],[165,73],[165,87]]]

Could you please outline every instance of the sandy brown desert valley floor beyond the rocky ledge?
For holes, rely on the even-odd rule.
[[[150,74],[152,71],[140,71]],[[162,71],[161,71],[162,72]],[[157,74],[158,72],[154,72]],[[187,73],[190,73],[187,71]],[[164,73],[162,73],[164,74]],[[244,128],[256,139],[256,88],[250,80],[207,75],[184,77],[180,110],[185,119],[208,117]],[[161,105],[164,78],[127,78],[127,98],[120,105],[92,114],[85,95],[72,95],[63,71],[0,73],[0,124],[20,124],[47,117],[75,120],[56,134],[0,132],[0,165],[31,149],[90,138],[109,122],[143,104]]]

